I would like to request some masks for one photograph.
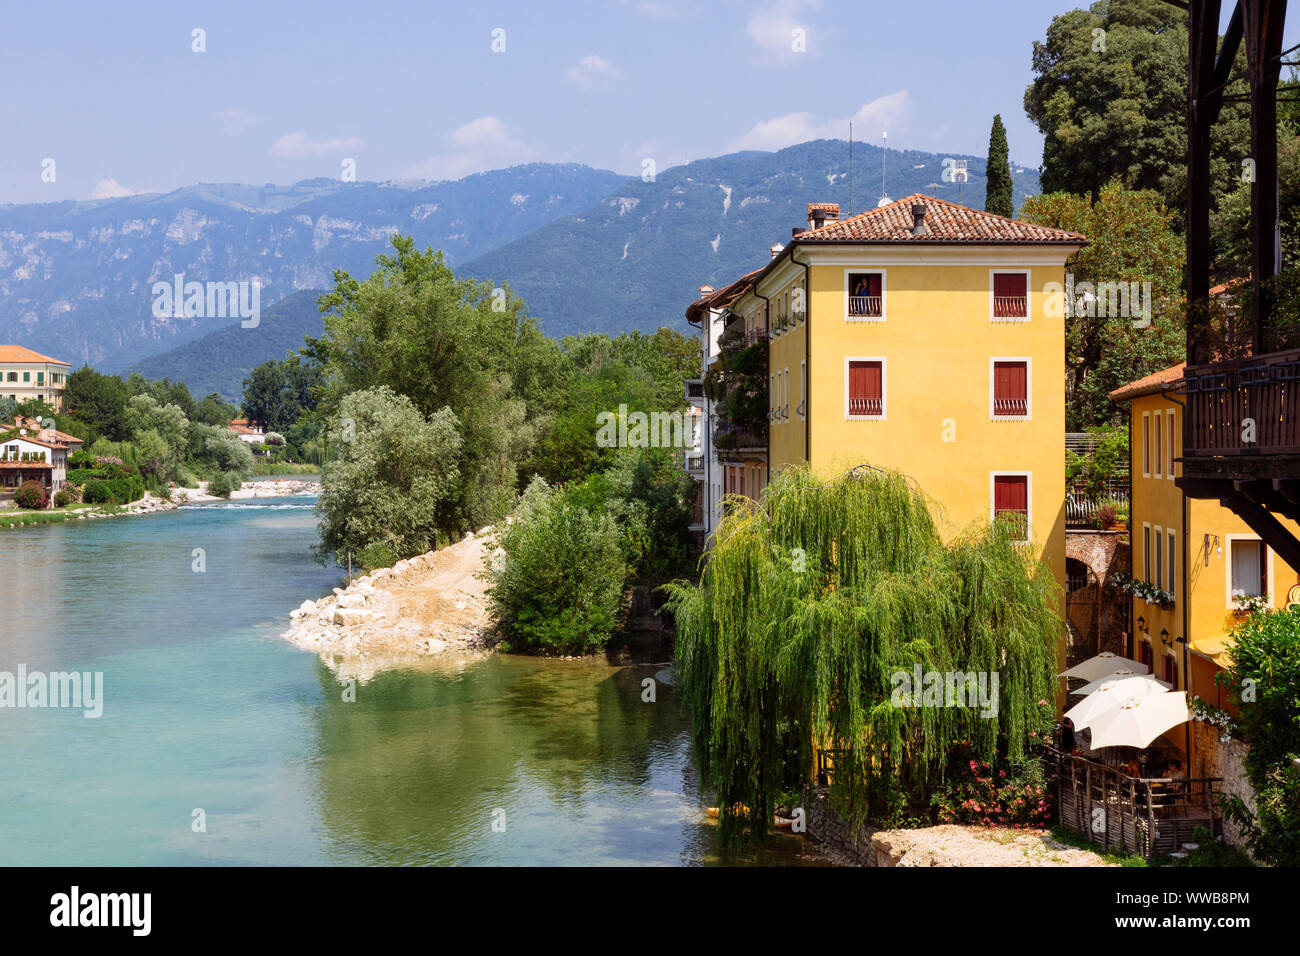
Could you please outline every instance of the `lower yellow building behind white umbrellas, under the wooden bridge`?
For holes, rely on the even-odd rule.
[[[1130,405],[1132,576],[1164,592],[1156,601],[1134,597],[1127,654],[1175,691],[1222,706],[1214,674],[1242,617],[1235,597],[1283,607],[1300,601],[1300,576],[1236,514],[1174,484],[1182,476],[1183,368],[1110,393]],[[1297,533],[1295,522],[1278,520]]]

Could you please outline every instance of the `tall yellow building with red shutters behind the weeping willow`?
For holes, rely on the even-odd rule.
[[[724,462],[727,489],[803,462],[898,470],[948,533],[1023,523],[1063,585],[1063,284],[1084,238],[922,195],[807,213],[764,268],[686,312],[767,342],[764,454]]]

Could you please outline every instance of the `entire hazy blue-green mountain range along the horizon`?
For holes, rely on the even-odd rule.
[[[968,181],[944,182],[945,160]],[[884,169],[881,169],[884,164]],[[1013,168],[1017,207],[1037,173]],[[105,371],[186,381],[237,398],[247,371],[318,334],[315,298],[334,269],[373,271],[395,233],[441,248],[456,273],[510,287],[552,336],[685,329],[699,285],[757,268],[806,225],[806,204],[842,215],[881,191],[976,208],[979,156],[815,140],[662,170],[651,181],[576,164],[530,164],[439,183],[199,185],[165,195],[0,207],[0,342]],[[257,328],[156,319],[151,287],[260,278]]]

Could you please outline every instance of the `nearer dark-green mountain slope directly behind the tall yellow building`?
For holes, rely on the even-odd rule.
[[[853,211],[881,194],[880,147],[855,144]],[[942,182],[948,156],[890,150],[885,191],[984,207],[984,159],[966,160],[968,182]],[[1037,170],[1011,168],[1015,206],[1037,191]],[[738,152],[630,179],[584,212],[566,216],[467,263],[467,276],[508,284],[551,334],[673,325],[703,284],[760,267],[768,247],[807,225],[807,203],[849,213],[846,142],[816,140],[780,152]]]

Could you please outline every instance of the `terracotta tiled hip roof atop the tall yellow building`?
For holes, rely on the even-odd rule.
[[[926,207],[926,234],[913,235],[911,207]],[[814,206],[818,206],[814,203]],[[793,242],[1024,242],[1079,245],[1087,239],[1065,229],[1020,222],[946,199],[914,193],[889,206],[827,222],[800,233]]]

